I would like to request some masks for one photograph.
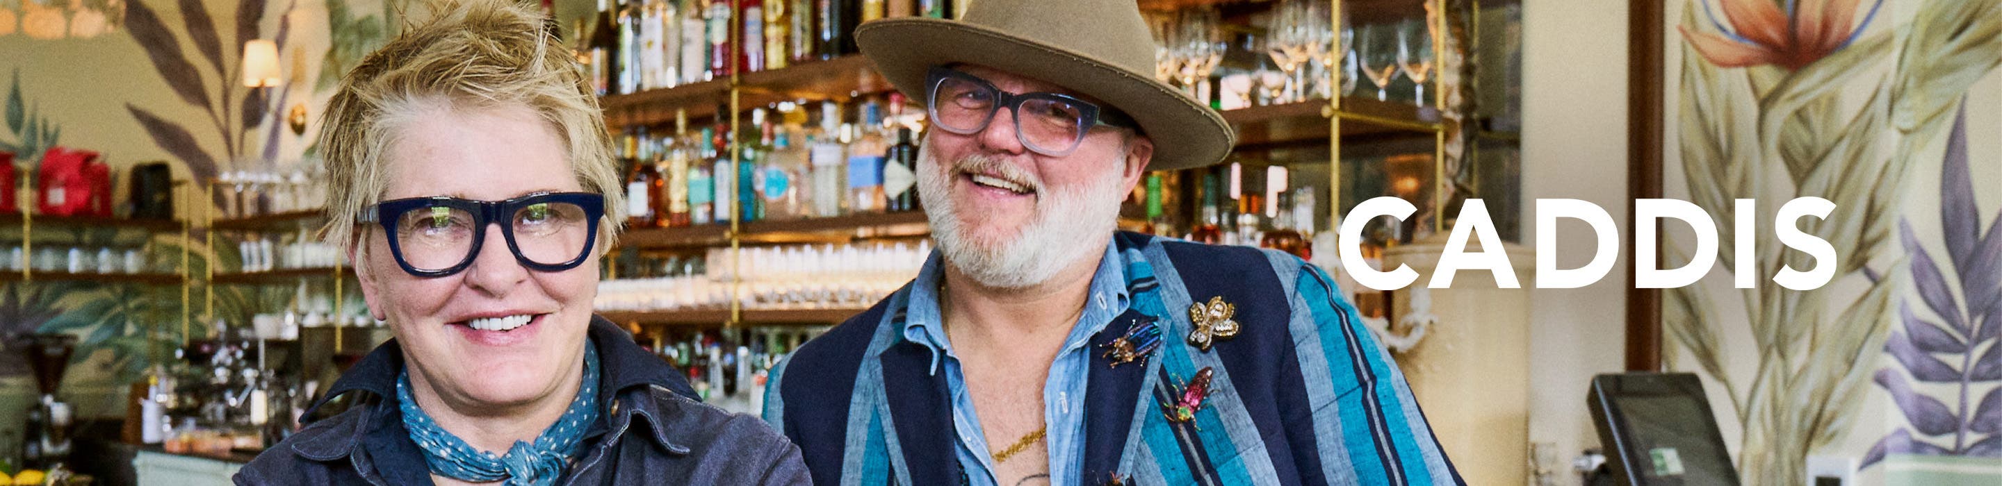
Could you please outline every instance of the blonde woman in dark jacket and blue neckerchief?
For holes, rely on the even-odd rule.
[[[791,442],[591,314],[625,214],[569,50],[523,2],[430,10],[320,126],[326,238],[396,338],[328,390],[354,406],[236,482],[805,484]]]

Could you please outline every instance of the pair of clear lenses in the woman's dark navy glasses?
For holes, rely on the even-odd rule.
[[[565,264],[585,252],[591,240],[591,216],[571,202],[537,202],[521,206],[507,220],[521,258],[537,264]],[[418,270],[444,270],[472,258],[472,242],[486,224],[472,212],[452,206],[422,206],[396,218],[396,244],[404,264]],[[500,242],[486,242],[500,244]]]

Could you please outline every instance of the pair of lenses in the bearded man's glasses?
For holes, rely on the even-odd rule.
[[[971,134],[987,128],[999,112],[1001,92],[965,78],[945,76],[933,88],[935,124]],[[1069,152],[1085,132],[1085,110],[1055,98],[1017,98],[1015,132],[1037,152]]]

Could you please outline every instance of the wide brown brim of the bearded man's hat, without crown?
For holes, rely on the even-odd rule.
[[[961,62],[1029,76],[1103,100],[1133,116],[1141,132],[1153,140],[1153,160],[1147,170],[1217,164],[1237,138],[1223,114],[1151,76],[977,24],[941,18],[873,20],[855,28],[855,44],[885,80],[913,100],[925,96],[925,70]]]

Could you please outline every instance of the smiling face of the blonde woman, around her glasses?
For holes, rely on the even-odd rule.
[[[382,200],[579,192],[583,184],[565,154],[557,130],[527,106],[418,102],[388,148]],[[577,386],[599,252],[571,270],[529,270],[503,244],[498,224],[478,230],[484,244],[470,266],[420,278],[396,264],[380,226],[364,226],[366,250],[356,266],[368,308],[392,326],[410,384],[454,410],[505,410],[569,396],[557,390]]]

